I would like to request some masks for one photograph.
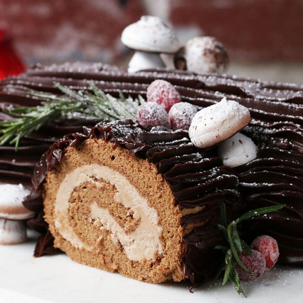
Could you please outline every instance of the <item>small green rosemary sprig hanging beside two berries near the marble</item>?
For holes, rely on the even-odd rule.
[[[252,252],[250,247],[245,243],[245,241],[240,239],[237,230],[237,224],[253,216],[280,210],[284,206],[285,205],[275,205],[253,209],[251,211],[246,212],[244,215],[241,215],[237,220],[227,224],[225,203],[221,203],[220,215],[222,224],[218,224],[218,228],[221,230],[223,237],[225,238],[226,245],[216,246],[215,249],[220,249],[225,254],[225,259],[222,261],[216,274],[216,278],[218,278],[221,272],[224,271],[222,285],[225,285],[228,280],[231,281],[238,294],[242,294],[245,296],[245,298],[247,298],[243,289],[240,286],[240,278],[238,276],[238,272],[236,270],[235,265],[238,264],[245,271],[252,274],[253,272],[245,267],[238,255],[239,253],[245,251],[248,255],[251,256]]]

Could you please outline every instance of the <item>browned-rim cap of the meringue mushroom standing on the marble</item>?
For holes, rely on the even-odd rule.
[[[21,183],[0,184],[0,218],[10,220],[25,220],[32,218],[35,212],[28,210],[22,204],[30,190]]]

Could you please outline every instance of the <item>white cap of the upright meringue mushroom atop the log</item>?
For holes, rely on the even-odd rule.
[[[129,48],[156,53],[175,53],[180,45],[174,31],[154,16],[142,16],[122,32],[121,41]]]

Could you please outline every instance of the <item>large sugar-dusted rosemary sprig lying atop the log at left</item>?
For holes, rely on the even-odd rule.
[[[11,111],[4,110],[6,114],[15,118],[12,121],[0,122],[0,146],[8,142],[15,144],[18,149],[19,141],[33,131],[37,131],[42,125],[54,121],[70,113],[80,114],[83,117],[109,121],[130,118],[136,120],[138,107],[145,102],[139,95],[138,99],[125,98],[119,92],[120,99],[105,94],[97,88],[93,82],[88,82],[92,92],[86,90],[75,91],[68,86],[54,82],[54,86],[67,97],[32,91],[32,96],[48,99],[41,102],[40,106],[19,107]]]

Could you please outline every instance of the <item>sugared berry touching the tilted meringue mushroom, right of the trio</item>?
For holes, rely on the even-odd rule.
[[[188,130],[191,120],[198,112],[195,105],[188,102],[179,102],[174,104],[168,112],[169,126],[175,131],[176,129]]]

